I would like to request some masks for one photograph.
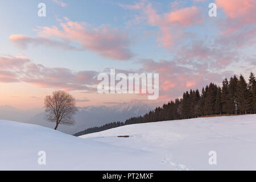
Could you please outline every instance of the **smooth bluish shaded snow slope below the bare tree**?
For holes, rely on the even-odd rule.
[[[38,164],[39,151],[46,152],[46,166]],[[152,156],[47,127],[0,121],[0,170],[165,169],[159,160],[148,161]]]

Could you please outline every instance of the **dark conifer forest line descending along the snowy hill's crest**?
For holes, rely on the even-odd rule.
[[[139,117],[127,119],[125,122],[113,122],[100,127],[92,127],[81,131],[75,136],[95,133],[137,123],[170,121],[207,117],[222,114],[255,114],[256,113],[256,80],[254,73],[250,73],[249,81],[236,75],[222,81],[222,86],[212,82],[203,87],[201,93],[198,89],[183,93],[182,98],[176,98],[162,107]]]

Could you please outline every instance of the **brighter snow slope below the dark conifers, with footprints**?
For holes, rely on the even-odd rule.
[[[143,123],[81,138],[152,152],[166,169],[256,170],[255,114]],[[210,151],[216,151],[217,165],[209,165]]]

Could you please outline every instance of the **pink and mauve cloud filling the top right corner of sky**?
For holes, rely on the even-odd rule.
[[[218,23],[221,35],[216,42],[240,49],[253,46],[256,41],[256,1],[216,0],[216,4],[226,14],[226,18]]]

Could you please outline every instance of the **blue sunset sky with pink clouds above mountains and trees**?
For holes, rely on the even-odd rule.
[[[247,78],[256,72],[255,12],[254,0],[1,0],[0,105],[43,107],[54,90],[78,106],[158,105],[234,74]],[[97,93],[97,76],[111,68],[159,73],[159,98]]]

